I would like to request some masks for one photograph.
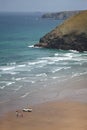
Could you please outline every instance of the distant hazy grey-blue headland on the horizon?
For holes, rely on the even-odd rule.
[[[58,13],[46,13],[42,15],[42,18],[52,18],[52,19],[63,20],[75,14],[78,14],[79,12],[80,11],[63,11],[63,12],[58,12]]]

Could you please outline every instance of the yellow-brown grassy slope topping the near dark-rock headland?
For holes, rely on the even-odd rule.
[[[70,33],[87,34],[87,11],[82,11],[79,14],[65,20],[63,24],[57,26],[52,32],[52,35],[61,36]]]

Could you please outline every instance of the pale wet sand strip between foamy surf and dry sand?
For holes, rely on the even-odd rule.
[[[0,116],[10,111],[29,106],[39,105],[48,101],[68,101],[87,103],[87,76],[74,77],[61,84],[43,88],[40,92],[29,95],[24,99],[14,99],[0,104]],[[55,80],[56,81],[56,80]]]

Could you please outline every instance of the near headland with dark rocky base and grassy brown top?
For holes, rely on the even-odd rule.
[[[82,11],[67,19],[43,36],[35,46],[87,51],[87,11]]]

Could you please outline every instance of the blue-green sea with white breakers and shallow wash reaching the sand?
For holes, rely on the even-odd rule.
[[[62,83],[87,78],[87,52],[34,47],[62,22],[38,13],[0,13],[0,112],[56,99]]]

